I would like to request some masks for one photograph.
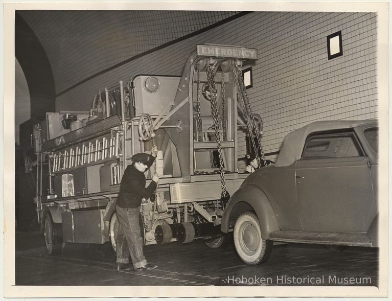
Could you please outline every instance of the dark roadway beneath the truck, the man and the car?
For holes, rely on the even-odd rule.
[[[41,233],[16,233],[16,285],[378,285],[377,248],[331,252],[320,245],[277,244],[266,263],[248,266],[238,258],[233,242],[211,249],[196,240],[148,245],[145,256],[158,268],[117,271],[107,244],[66,244],[59,256],[49,256]]]

